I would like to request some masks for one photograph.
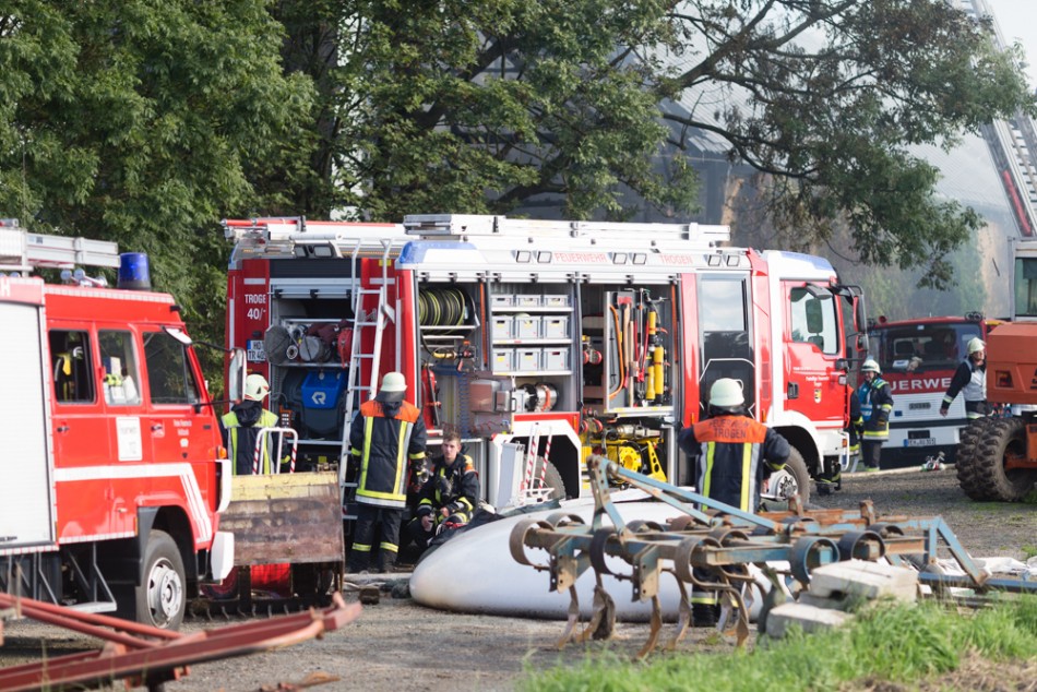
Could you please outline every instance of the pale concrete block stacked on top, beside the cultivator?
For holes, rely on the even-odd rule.
[[[914,601],[918,597],[918,573],[867,560],[846,560],[825,564],[810,573],[810,593],[820,598],[845,596]]]

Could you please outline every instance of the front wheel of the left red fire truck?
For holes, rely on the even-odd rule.
[[[166,532],[154,529],[144,549],[144,582],[136,587],[136,620],[162,630],[176,630],[187,606],[183,559]]]

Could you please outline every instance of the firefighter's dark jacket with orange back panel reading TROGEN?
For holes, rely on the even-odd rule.
[[[788,441],[748,416],[720,414],[681,430],[677,443],[695,458],[699,494],[744,512],[760,508],[763,479],[788,461]]]

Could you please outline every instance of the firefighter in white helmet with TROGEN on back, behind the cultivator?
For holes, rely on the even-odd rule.
[[[699,494],[755,512],[764,479],[785,468],[791,450],[780,433],[753,420],[744,404],[741,384],[720,378],[710,389],[710,417],[681,430],[677,443],[695,462]],[[699,570],[699,581],[716,581],[708,570]],[[691,606],[696,627],[716,624],[717,592],[695,586]]]

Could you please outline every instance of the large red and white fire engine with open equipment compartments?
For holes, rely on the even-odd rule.
[[[498,506],[532,486],[589,492],[592,452],[690,482],[677,432],[723,377],[794,446],[771,492],[806,499],[808,474],[845,463],[863,300],[821,258],[725,247],[728,227],[696,224],[415,215],[224,228],[228,345],[267,374],[300,468],[349,458],[349,421],[390,370],[406,377],[430,445],[461,432]],[[348,489],[355,469],[339,473]]]

